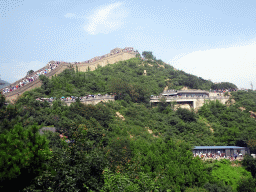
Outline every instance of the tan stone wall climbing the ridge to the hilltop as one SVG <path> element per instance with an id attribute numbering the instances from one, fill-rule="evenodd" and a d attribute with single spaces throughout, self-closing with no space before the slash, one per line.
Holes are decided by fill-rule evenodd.
<path id="1" fill-rule="evenodd" d="M 45 74 L 45 76 L 51 78 L 52 76 L 58 75 L 61 72 L 63 72 L 65 69 L 69 68 L 70 65 L 72 65 L 73 67 L 77 66 L 78 70 L 81 72 L 86 72 L 86 71 L 88 71 L 88 69 L 90 71 L 93 71 L 98 66 L 104 67 L 108 64 L 114 64 L 118 61 L 124 61 L 124 60 L 128 60 L 131 58 L 135 58 L 136 54 L 137 54 L 137 52 L 134 51 L 132 47 L 126 47 L 124 49 L 115 48 L 115 49 L 111 50 L 110 53 L 108 53 L 102 57 L 94 57 L 94 58 L 88 60 L 88 62 L 87 61 L 78 62 L 78 63 L 60 62 L 59 66 L 56 69 Z M 53 62 L 53 61 L 51 61 L 51 62 Z M 43 70 L 44 68 L 46 68 L 46 66 L 35 71 L 34 73 L 37 73 L 37 72 Z M 23 79 L 25 79 L 25 78 L 26 77 L 24 77 Z M 16 82 L 12 83 L 8 87 L 16 86 L 23 79 L 20 79 Z M 40 87 L 41 85 L 42 85 L 42 83 L 41 83 L 40 79 L 38 78 L 35 81 L 32 81 L 32 82 L 28 83 L 27 85 L 20 87 L 17 90 L 5 93 L 6 100 L 11 103 L 14 103 L 17 100 L 17 98 L 19 96 L 21 96 L 24 92 L 32 90 L 37 87 Z"/>

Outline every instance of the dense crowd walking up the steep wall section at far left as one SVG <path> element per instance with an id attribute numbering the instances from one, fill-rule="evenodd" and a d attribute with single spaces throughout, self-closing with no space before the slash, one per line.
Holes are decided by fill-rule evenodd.
<path id="1" fill-rule="evenodd" d="M 30 82 L 37 80 L 40 75 L 46 75 L 47 73 L 49 73 L 52 70 L 54 70 L 55 68 L 57 68 L 59 66 L 59 64 L 60 64 L 59 61 L 48 63 L 46 68 L 40 69 L 36 72 L 33 72 L 32 74 L 28 74 L 25 78 L 20 80 L 20 82 L 16 82 L 13 85 L 9 85 L 8 87 L 4 88 L 3 94 L 9 93 L 11 91 L 15 91 L 15 90 L 29 84 Z"/>

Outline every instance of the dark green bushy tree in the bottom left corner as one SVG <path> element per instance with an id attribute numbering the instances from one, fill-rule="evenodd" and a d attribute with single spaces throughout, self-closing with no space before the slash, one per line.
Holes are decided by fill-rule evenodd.
<path id="1" fill-rule="evenodd" d="M 0 188 L 3 191 L 24 188 L 47 169 L 44 161 L 51 157 L 51 152 L 48 141 L 38 130 L 36 125 L 25 129 L 19 123 L 0 135 Z"/>

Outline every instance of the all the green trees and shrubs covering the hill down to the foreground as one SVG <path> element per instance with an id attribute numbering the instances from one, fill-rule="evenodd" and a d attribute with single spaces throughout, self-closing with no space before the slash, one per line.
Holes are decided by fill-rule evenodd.
<path id="1" fill-rule="evenodd" d="M 67 69 L 52 79 L 40 78 L 42 86 L 24 93 L 15 105 L 5 106 L 1 95 L 3 191 L 255 190 L 254 159 L 246 157 L 242 164 L 204 162 L 191 152 L 195 145 L 239 145 L 254 151 L 256 121 L 239 109 L 246 97 L 251 100 L 245 107 L 254 109 L 254 93 L 232 92 L 236 104 L 209 102 L 197 113 L 175 111 L 174 103 L 152 108 L 150 95 L 166 86 L 216 86 L 154 58 L 134 58 L 85 73 Z M 230 83 L 218 86 L 236 88 Z M 95 106 L 77 100 L 70 107 L 58 99 L 52 106 L 35 100 L 97 93 L 115 93 L 117 100 Z M 39 135 L 46 126 L 57 132 Z"/>

